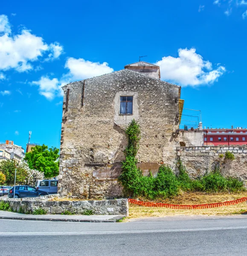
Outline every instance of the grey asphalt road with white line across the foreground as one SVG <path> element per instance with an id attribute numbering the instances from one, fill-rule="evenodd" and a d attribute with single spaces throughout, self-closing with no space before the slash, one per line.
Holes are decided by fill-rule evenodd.
<path id="1" fill-rule="evenodd" d="M 4 256 L 247 255 L 247 215 L 127 223 L 0 220 Z"/>

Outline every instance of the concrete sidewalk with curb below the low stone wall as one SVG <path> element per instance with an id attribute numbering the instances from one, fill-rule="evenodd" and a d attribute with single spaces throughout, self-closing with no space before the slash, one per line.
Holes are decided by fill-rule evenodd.
<path id="1" fill-rule="evenodd" d="M 27 221 L 116 222 L 125 215 L 32 215 L 0 211 L 0 219 Z"/>

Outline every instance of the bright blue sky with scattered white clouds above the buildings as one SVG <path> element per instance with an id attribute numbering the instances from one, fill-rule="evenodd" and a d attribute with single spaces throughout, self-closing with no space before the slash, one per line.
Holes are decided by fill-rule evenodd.
<path id="1" fill-rule="evenodd" d="M 31 143 L 59 147 L 61 85 L 139 55 L 182 86 L 203 126 L 247 128 L 247 1 L 12 0 L 0 15 L 0 142 L 25 148 L 32 131 Z"/>

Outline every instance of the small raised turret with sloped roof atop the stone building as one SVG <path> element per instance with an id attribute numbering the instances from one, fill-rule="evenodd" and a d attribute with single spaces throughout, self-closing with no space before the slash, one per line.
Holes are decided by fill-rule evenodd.
<path id="1" fill-rule="evenodd" d="M 145 61 L 128 64 L 125 66 L 125 69 L 142 73 L 144 76 L 160 79 L 160 67 Z"/>

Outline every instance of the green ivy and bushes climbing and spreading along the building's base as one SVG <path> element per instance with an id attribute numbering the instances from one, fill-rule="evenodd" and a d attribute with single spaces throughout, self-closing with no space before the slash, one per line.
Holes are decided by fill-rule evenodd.
<path id="1" fill-rule="evenodd" d="M 140 129 L 134 119 L 127 129 L 126 135 L 128 136 L 128 146 L 125 149 L 126 158 L 122 163 L 119 180 L 128 196 L 164 199 L 178 195 L 180 190 L 202 192 L 245 190 L 243 182 L 222 176 L 218 166 L 213 172 L 197 180 L 192 180 L 180 160 L 178 160 L 179 173 L 177 176 L 169 166 L 162 165 L 156 177 L 153 177 L 151 172 L 148 177 L 144 177 L 142 171 L 137 168 L 136 155 L 139 149 Z M 226 153 L 227 159 L 233 160 L 232 156 L 234 157 L 232 153 Z"/>

